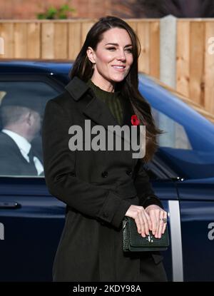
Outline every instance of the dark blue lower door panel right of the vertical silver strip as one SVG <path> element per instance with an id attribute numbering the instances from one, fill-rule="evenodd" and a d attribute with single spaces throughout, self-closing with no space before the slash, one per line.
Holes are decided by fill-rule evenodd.
<path id="1" fill-rule="evenodd" d="M 214 178 L 178 183 L 185 281 L 214 281 Z"/>

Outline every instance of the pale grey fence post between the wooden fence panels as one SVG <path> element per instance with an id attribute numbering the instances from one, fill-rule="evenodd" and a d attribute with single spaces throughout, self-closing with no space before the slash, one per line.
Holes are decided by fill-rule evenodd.
<path id="1" fill-rule="evenodd" d="M 176 37 L 177 19 L 165 16 L 160 21 L 160 79 L 176 88 Z"/>

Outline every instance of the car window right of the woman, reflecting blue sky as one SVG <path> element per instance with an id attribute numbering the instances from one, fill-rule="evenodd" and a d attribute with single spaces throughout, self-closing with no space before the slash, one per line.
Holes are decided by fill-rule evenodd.
<path id="1" fill-rule="evenodd" d="M 190 121 L 180 122 L 152 108 L 158 128 L 158 154 L 183 178 L 212 178 L 214 176 L 214 126 L 198 128 Z M 173 115 L 173 114 L 172 114 Z M 213 132 L 212 132 L 213 130 Z"/>

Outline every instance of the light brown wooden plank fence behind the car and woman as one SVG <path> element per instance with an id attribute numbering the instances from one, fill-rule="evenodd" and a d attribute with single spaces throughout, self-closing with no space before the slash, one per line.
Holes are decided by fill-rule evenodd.
<path id="1" fill-rule="evenodd" d="M 74 60 L 96 19 L 61 21 L 0 21 L 4 58 Z M 164 43 L 160 19 L 126 19 L 141 42 L 139 70 L 160 77 Z M 164 33 L 164 32 L 163 32 Z M 162 37 L 161 37 L 162 36 Z M 176 19 L 175 86 L 183 96 L 214 114 L 214 54 L 208 42 L 214 37 L 214 19 Z M 162 41 L 161 41 L 162 38 Z M 172 37 L 173 39 L 173 37 Z M 214 39 L 214 38 L 213 38 Z M 214 41 L 213 41 L 214 43 Z M 214 52 L 214 51 L 213 51 Z M 171 62 L 171 61 L 170 61 Z M 163 80 L 162 80 L 163 81 Z M 165 81 L 163 81 L 165 82 Z"/>

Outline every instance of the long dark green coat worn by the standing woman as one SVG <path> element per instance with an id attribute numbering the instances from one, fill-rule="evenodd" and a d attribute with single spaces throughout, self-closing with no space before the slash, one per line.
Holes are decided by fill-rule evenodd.
<path id="1" fill-rule="evenodd" d="M 134 113 L 127 100 L 123 108 L 123 125 L 131 126 Z M 54 281 L 165 280 L 159 253 L 128 255 L 122 248 L 122 220 L 130 205 L 161 205 L 148 175 L 142 165 L 134 173 L 140 159 L 132 158 L 132 150 L 69 150 L 68 129 L 84 130 L 85 119 L 91 127 L 118 124 L 91 88 L 74 77 L 46 104 L 42 128 L 46 185 L 67 205 Z"/>

